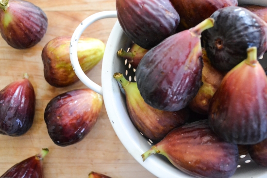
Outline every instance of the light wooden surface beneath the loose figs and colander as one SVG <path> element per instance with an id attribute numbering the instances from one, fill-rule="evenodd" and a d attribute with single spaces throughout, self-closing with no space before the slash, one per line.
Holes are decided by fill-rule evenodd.
<path id="1" fill-rule="evenodd" d="M 91 171 L 112 178 L 155 178 L 127 152 L 108 119 L 103 105 L 100 117 L 90 133 L 71 146 L 56 146 L 44 122 L 44 110 L 51 98 L 72 89 L 85 88 L 81 81 L 65 88 L 50 86 L 44 79 L 41 51 L 45 44 L 60 35 L 72 35 L 83 19 L 105 10 L 116 10 L 116 0 L 29 0 L 48 17 L 44 38 L 31 49 L 13 49 L 0 37 L 0 89 L 29 74 L 36 95 L 32 128 L 22 136 L 0 135 L 0 175 L 11 166 L 48 147 L 44 159 L 45 178 L 87 178 Z M 83 35 L 95 37 L 105 44 L 116 18 L 93 23 Z M 101 85 L 102 61 L 88 73 Z"/>

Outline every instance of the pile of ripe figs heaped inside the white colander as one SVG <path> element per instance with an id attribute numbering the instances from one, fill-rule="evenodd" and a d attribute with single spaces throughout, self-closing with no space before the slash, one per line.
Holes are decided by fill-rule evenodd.
<path id="1" fill-rule="evenodd" d="M 237 0 L 117 0 L 133 41 L 116 72 L 135 128 L 197 178 L 229 178 L 239 154 L 267 167 L 267 7 Z"/>

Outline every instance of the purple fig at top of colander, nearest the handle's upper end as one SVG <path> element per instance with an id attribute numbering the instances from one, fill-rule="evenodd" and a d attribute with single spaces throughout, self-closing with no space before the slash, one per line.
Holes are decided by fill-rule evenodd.
<path id="1" fill-rule="evenodd" d="M 174 34 L 180 22 L 169 0 L 116 0 L 116 8 L 125 34 L 144 49 Z"/>

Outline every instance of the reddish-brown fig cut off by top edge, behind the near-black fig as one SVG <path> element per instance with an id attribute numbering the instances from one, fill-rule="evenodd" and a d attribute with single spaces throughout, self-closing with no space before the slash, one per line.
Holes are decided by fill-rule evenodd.
<path id="1" fill-rule="evenodd" d="M 195 27 L 215 11 L 227 6 L 237 6 L 237 0 L 170 0 L 181 20 L 179 29 Z"/>

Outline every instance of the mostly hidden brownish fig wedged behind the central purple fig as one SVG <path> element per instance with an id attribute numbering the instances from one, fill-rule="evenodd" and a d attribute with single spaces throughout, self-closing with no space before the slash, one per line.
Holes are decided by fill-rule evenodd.
<path id="1" fill-rule="evenodd" d="M 211 65 L 206 50 L 203 48 L 202 54 L 203 68 L 201 81 L 203 84 L 200 86 L 197 95 L 188 106 L 196 113 L 208 114 L 210 99 L 219 87 L 225 73 L 217 70 Z"/>

